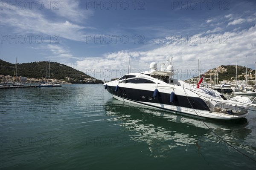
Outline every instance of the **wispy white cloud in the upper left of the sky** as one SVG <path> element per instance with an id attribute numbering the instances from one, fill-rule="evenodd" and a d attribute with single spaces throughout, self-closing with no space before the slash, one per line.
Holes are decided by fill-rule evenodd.
<path id="1" fill-rule="evenodd" d="M 80 19 L 86 18 L 86 14 L 83 12 L 75 12 L 78 3 L 68 3 L 70 1 L 60 1 L 59 10 L 52 10 L 59 16 L 64 17 L 62 21 L 49 20 L 41 10 L 36 9 L 9 9 L 8 6 L 3 6 L 1 10 L 0 20 L 1 25 L 5 28 L 12 28 L 8 30 L 8 34 L 35 34 L 35 35 L 58 35 L 69 40 L 85 41 L 84 29 L 92 29 L 86 26 L 80 26 L 72 23 Z M 61 6 L 62 4 L 62 6 Z M 68 5 L 70 4 L 70 7 Z M 50 18 L 50 17 L 48 17 Z M 66 19 L 66 20 L 65 20 Z M 69 21 L 71 20 L 71 21 Z"/>

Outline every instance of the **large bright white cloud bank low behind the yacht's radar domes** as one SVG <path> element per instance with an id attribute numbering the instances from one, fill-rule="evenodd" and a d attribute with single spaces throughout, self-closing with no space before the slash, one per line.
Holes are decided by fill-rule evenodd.
<path id="1" fill-rule="evenodd" d="M 216 29 L 218 30 L 218 28 Z M 159 62 L 165 62 L 167 58 L 173 56 L 175 69 L 184 74 L 188 74 L 191 69 L 197 70 L 198 59 L 202 61 L 205 69 L 210 68 L 211 61 L 213 66 L 235 63 L 236 56 L 241 58 L 239 65 L 245 65 L 242 58 L 245 58 L 246 55 L 248 60 L 255 60 L 255 57 L 253 57 L 256 55 L 255 26 L 241 31 L 236 30 L 236 32 L 211 35 L 213 39 L 208 35 L 207 40 L 207 35 L 205 35 L 201 41 L 199 35 L 194 35 L 198 37 L 195 43 L 192 43 L 194 42 L 192 39 L 188 40 L 187 43 L 185 41 L 173 43 L 172 39 L 169 38 L 169 44 L 156 49 L 148 51 L 122 50 L 98 58 L 84 58 L 83 61 L 70 63 L 70 66 L 84 72 L 87 72 L 88 69 L 93 70 L 94 73 L 102 72 L 102 74 L 91 74 L 91 76 L 102 80 L 104 78 L 110 80 L 110 78 L 104 77 L 104 71 L 110 69 L 113 73 L 115 69 L 119 69 L 119 71 L 128 69 L 129 58 L 131 59 L 132 69 L 138 71 L 139 69 L 148 70 L 151 62 L 157 62 L 159 66 Z M 114 74 L 111 78 L 113 77 L 115 77 Z M 120 77 L 120 74 L 116 77 Z"/>

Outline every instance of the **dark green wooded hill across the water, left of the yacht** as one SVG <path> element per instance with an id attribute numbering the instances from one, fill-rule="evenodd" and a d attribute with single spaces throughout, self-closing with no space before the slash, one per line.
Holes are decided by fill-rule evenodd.
<path id="1" fill-rule="evenodd" d="M 49 61 L 40 61 L 32 63 L 17 63 L 17 76 L 27 78 L 45 78 L 49 70 Z M 13 76 L 15 70 L 15 64 L 0 60 L 0 75 Z M 84 78 L 93 78 L 84 72 L 73 69 L 70 66 L 64 64 L 51 62 L 50 63 L 50 78 L 58 80 L 65 80 L 66 77 L 71 78 L 70 83 L 83 83 L 80 80 Z M 95 83 L 103 83 L 101 80 L 95 81 Z"/>

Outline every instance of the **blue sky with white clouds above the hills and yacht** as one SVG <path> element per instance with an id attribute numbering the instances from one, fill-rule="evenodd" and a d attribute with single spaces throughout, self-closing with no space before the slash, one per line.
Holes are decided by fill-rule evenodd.
<path id="1" fill-rule="evenodd" d="M 255 0 L 0 1 L 0 58 L 59 62 L 110 80 L 173 56 L 178 76 L 255 69 Z M 181 75 L 181 76 L 180 76 Z"/>

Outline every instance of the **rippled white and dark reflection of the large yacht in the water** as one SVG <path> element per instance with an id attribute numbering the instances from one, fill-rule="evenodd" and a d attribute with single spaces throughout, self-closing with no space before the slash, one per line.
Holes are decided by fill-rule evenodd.
<path id="1" fill-rule="evenodd" d="M 106 115 L 113 116 L 109 121 L 117 121 L 125 130 L 131 132 L 131 140 L 144 142 L 155 157 L 165 156 L 178 146 L 202 147 L 228 146 L 246 149 L 253 155 L 253 146 L 243 141 L 252 132 L 246 128 L 246 118 L 218 122 L 175 115 L 169 112 L 156 111 L 147 107 L 135 106 L 118 100 L 111 100 L 104 105 Z M 121 122 L 121 123 L 120 123 Z M 218 138 L 221 137 L 224 141 Z"/>

